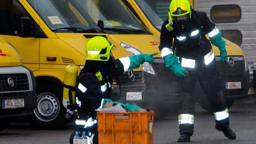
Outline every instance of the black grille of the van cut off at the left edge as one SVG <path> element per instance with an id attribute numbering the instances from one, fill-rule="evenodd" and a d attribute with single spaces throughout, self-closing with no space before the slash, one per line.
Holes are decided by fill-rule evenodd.
<path id="1" fill-rule="evenodd" d="M 8 78 L 12 78 L 13 86 L 8 84 Z M 0 92 L 29 90 L 29 81 L 26 73 L 0 74 Z"/>

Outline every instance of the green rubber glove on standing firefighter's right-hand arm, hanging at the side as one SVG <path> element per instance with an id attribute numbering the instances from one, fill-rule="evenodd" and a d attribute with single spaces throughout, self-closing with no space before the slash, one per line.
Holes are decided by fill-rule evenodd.
<path id="1" fill-rule="evenodd" d="M 226 41 L 224 41 L 222 39 L 222 33 L 219 32 L 214 37 L 210 37 L 210 41 L 211 41 L 212 44 L 214 44 L 215 46 L 217 46 L 219 48 L 220 61 L 222 63 L 225 63 L 226 62 L 226 56 L 227 56 L 226 47 L 225 47 Z"/>

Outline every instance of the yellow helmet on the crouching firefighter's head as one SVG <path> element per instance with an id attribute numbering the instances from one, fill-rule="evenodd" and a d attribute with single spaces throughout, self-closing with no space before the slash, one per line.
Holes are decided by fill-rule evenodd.
<path id="1" fill-rule="evenodd" d="M 108 61 L 113 46 L 105 37 L 91 38 L 86 44 L 86 60 Z"/>

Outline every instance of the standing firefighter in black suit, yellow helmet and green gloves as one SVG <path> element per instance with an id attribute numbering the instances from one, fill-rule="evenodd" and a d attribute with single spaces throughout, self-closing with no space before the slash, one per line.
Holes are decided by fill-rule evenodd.
<path id="1" fill-rule="evenodd" d="M 206 12 L 193 10 L 188 0 L 172 0 L 168 14 L 168 19 L 162 24 L 159 49 L 165 66 L 180 77 L 178 142 L 190 142 L 194 132 L 193 90 L 196 80 L 212 105 L 215 128 L 229 139 L 236 139 L 236 134 L 229 127 L 222 80 L 218 76 L 211 46 L 212 43 L 219 48 L 220 61 L 224 63 L 227 56 L 226 42 L 222 40 L 219 29 L 209 20 Z M 208 34 L 211 43 L 205 34 Z"/>

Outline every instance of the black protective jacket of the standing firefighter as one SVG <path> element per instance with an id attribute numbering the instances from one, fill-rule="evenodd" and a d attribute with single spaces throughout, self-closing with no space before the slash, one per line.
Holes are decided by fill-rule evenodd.
<path id="1" fill-rule="evenodd" d="M 212 49 L 212 45 L 205 37 L 205 34 L 212 32 L 215 28 L 215 24 L 209 20 L 206 12 L 192 10 L 192 18 L 190 18 L 189 26 L 185 31 L 179 29 L 174 21 L 174 29 L 169 32 L 165 28 L 167 23 L 168 19 L 162 24 L 159 46 L 160 51 L 165 47 L 172 49 L 173 51 L 175 51 L 176 48 L 176 56 L 203 61 L 204 56 Z M 192 32 L 194 33 L 197 30 L 199 30 L 199 33 L 192 36 Z M 180 41 L 178 40 L 179 37 L 186 37 L 186 39 Z"/>

